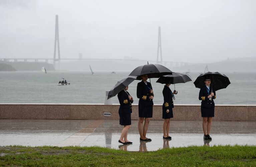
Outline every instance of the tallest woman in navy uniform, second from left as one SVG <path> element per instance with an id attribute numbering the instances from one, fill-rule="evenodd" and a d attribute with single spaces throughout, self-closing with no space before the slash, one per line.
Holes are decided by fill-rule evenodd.
<path id="1" fill-rule="evenodd" d="M 137 98 L 139 98 L 139 122 L 138 129 L 140 133 L 140 140 L 151 141 L 146 137 L 150 118 L 153 116 L 153 90 L 150 82 L 147 82 L 148 75 L 142 75 L 142 81 L 137 85 Z M 143 125 L 143 121 L 145 123 Z"/>

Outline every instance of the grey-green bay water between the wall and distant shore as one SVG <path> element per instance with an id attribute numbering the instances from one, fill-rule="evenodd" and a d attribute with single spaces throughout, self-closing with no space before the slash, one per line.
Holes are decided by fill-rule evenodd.
<path id="1" fill-rule="evenodd" d="M 0 72 L 0 103 L 81 103 L 102 104 L 105 100 L 105 91 L 110 90 L 117 81 L 127 77 L 130 72 L 73 72 L 41 71 L 33 72 Z M 227 75 L 231 84 L 226 89 L 216 91 L 215 104 L 222 105 L 255 105 L 254 92 L 256 92 L 256 73 L 221 72 Z M 176 84 L 174 104 L 200 104 L 199 89 L 193 82 L 198 72 L 189 73 L 192 81 Z M 57 83 L 66 78 L 70 85 L 58 86 Z M 149 81 L 149 79 L 148 79 Z M 154 90 L 154 104 L 163 104 L 162 90 L 164 85 L 156 83 L 152 78 Z M 134 97 L 134 104 L 138 104 L 136 96 L 137 83 L 135 80 L 129 85 L 129 93 Z M 174 90 L 174 85 L 170 86 Z M 117 96 L 110 98 L 113 104 L 118 104 Z"/>

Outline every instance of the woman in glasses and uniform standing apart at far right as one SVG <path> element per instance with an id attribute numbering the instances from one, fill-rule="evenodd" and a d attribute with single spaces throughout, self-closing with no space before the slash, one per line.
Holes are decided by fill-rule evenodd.
<path id="1" fill-rule="evenodd" d="M 205 79 L 205 86 L 200 89 L 199 100 L 201 102 L 201 115 L 203 117 L 203 131 L 204 140 L 211 140 L 210 130 L 212 125 L 212 118 L 214 117 L 214 101 L 216 93 L 211 85 L 211 79 Z"/>

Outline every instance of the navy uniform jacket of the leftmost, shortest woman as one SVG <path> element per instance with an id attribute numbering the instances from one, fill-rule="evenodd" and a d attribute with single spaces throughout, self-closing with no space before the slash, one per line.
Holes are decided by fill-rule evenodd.
<path id="1" fill-rule="evenodd" d="M 127 91 L 126 91 L 127 92 Z M 119 103 L 120 103 L 120 107 L 119 107 L 119 113 L 123 113 L 123 114 L 129 114 L 132 113 L 132 103 L 133 100 L 131 101 L 128 96 L 130 95 L 129 92 L 126 93 L 124 90 L 122 90 L 121 92 L 119 92 L 117 94 Z"/>

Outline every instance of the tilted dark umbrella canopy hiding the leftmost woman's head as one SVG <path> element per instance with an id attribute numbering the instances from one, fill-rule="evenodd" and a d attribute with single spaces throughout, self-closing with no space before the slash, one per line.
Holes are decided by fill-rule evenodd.
<path id="1" fill-rule="evenodd" d="M 123 90 L 126 86 L 136 80 L 137 76 L 128 76 L 127 78 L 123 78 L 122 80 L 118 81 L 115 86 L 108 92 L 107 99 L 114 97 L 117 95 L 121 90 Z"/>

